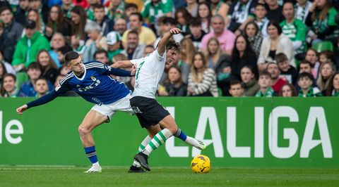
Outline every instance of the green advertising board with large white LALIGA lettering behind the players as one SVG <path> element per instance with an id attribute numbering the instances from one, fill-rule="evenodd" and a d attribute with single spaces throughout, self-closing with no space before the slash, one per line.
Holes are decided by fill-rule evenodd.
<path id="1" fill-rule="evenodd" d="M 78 124 L 91 108 L 81 98 L 57 98 L 24 115 L 32 98 L 0 98 L 0 165 L 88 165 Z M 189 167 L 206 155 L 213 167 L 339 168 L 339 101 L 335 98 L 159 98 L 186 134 L 206 150 L 169 138 L 152 166 Z M 102 165 L 131 164 L 145 137 L 135 116 L 117 113 L 95 129 Z M 121 139 L 129 141 L 121 141 Z M 66 147 L 65 147 L 66 145 Z M 59 157 L 60 150 L 68 157 Z M 25 155 L 23 157 L 23 155 Z"/>

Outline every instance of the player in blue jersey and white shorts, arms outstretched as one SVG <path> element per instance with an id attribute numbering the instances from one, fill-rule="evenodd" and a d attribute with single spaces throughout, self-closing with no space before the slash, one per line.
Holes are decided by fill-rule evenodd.
<path id="1" fill-rule="evenodd" d="M 95 103 L 96 105 L 91 108 L 83 122 L 81 122 L 78 131 L 85 153 L 93 164 L 86 172 L 101 172 L 95 152 L 95 143 L 90 132 L 100 124 L 109 122 L 114 112 L 118 110 L 134 113 L 129 103 L 131 98 L 129 89 L 124 83 L 113 79 L 109 75 L 131 77 L 135 75 L 135 70 L 133 69 L 131 72 L 121 70 L 98 61 L 83 63 L 81 57 L 74 51 L 66 53 L 64 60 L 71 72 L 64 79 L 61 79 L 54 91 L 20 106 L 20 108 L 16 109 L 16 112 L 21 115 L 25 110 L 48 103 L 69 90 L 75 91 L 86 101 Z"/>

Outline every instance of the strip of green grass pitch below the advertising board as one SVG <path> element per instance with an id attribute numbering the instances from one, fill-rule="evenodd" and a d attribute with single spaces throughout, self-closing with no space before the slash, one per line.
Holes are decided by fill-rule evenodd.
<path id="1" fill-rule="evenodd" d="M 104 167 L 85 174 L 83 167 L 1 167 L 0 186 L 339 186 L 339 169 L 152 168 L 129 174 L 127 167 Z"/>

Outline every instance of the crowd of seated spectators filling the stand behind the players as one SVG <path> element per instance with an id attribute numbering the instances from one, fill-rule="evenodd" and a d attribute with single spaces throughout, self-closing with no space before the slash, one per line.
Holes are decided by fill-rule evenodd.
<path id="1" fill-rule="evenodd" d="M 143 58 L 174 27 L 181 48 L 158 96 L 339 96 L 338 11 L 333 0 L 0 1 L 0 97 L 52 91 L 68 51 Z"/>

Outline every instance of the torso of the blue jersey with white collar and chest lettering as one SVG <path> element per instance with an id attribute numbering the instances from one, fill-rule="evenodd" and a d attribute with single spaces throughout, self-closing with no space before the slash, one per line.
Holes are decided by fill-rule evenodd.
<path id="1" fill-rule="evenodd" d="M 70 72 L 60 84 L 65 84 L 72 91 L 76 91 L 86 101 L 99 105 L 113 103 L 129 94 L 130 91 L 124 83 L 105 75 L 112 67 L 98 61 L 85 63 L 84 66 L 85 72 L 81 77 Z"/>

